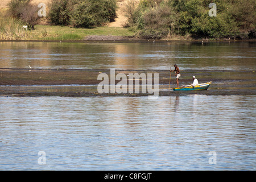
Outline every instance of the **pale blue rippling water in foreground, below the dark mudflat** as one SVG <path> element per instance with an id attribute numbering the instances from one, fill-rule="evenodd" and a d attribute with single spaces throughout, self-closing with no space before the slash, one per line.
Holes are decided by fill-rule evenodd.
<path id="1" fill-rule="evenodd" d="M 0 100 L 1 169 L 256 166 L 255 96 Z M 36 163 L 41 150 L 47 154 L 45 166 Z M 217 152 L 217 165 L 209 165 L 209 151 Z"/>

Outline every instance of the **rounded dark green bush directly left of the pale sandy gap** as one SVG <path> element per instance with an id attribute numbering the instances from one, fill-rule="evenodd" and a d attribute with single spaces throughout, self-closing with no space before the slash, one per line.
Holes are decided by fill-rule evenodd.
<path id="1" fill-rule="evenodd" d="M 96 27 L 115 18 L 115 0 L 54 0 L 49 3 L 51 24 L 72 27 Z"/>

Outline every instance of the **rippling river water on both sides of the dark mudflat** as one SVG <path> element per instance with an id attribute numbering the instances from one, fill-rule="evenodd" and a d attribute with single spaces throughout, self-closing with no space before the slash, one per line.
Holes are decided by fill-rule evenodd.
<path id="1" fill-rule="evenodd" d="M 0 42 L 0 68 L 253 72 L 255 47 Z M 242 94 L 0 97 L 0 170 L 255 170 L 255 106 Z"/>

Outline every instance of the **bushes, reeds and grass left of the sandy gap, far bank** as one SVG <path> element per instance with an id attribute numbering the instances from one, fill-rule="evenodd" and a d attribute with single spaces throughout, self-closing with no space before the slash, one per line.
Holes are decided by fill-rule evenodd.
<path id="1" fill-rule="evenodd" d="M 127 28 L 104 26 L 115 16 L 115 0 L 51 1 L 47 19 L 43 19 L 49 20 L 51 26 L 38 24 L 38 19 L 42 19 L 38 18 L 38 8 L 30 11 L 32 6 L 31 0 L 11 0 L 9 9 L 0 11 L 0 40 L 83 40 L 88 35 L 134 35 Z M 25 17 L 25 13 L 33 16 Z"/>

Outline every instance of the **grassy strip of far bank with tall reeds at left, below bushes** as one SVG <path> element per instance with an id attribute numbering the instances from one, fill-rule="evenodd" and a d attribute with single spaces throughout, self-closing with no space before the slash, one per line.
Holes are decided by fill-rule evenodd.
<path id="1" fill-rule="evenodd" d="M 1 13 L 0 13 L 1 15 Z M 94 28 L 74 28 L 69 26 L 51 26 L 49 24 L 38 24 L 35 30 L 26 30 L 23 23 L 11 17 L 0 18 L 0 41 L 73 41 L 73 42 L 108 42 L 108 41 L 133 41 L 133 42 L 163 42 L 163 41 L 195 41 L 195 42 L 237 42 L 256 39 L 228 39 L 228 38 L 192 38 L 191 35 L 172 35 L 168 39 L 142 39 L 135 36 L 135 32 L 129 28 L 114 27 L 107 24 Z"/>

